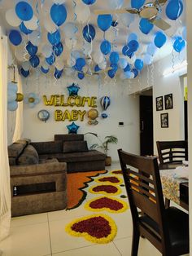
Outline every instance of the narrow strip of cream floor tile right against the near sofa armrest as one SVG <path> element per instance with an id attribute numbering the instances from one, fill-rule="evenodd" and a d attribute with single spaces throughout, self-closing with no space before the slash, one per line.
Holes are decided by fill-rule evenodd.
<path id="1" fill-rule="evenodd" d="M 11 218 L 11 227 L 20 227 L 24 225 L 32 225 L 37 223 L 46 223 L 47 213 L 32 214 Z"/>

